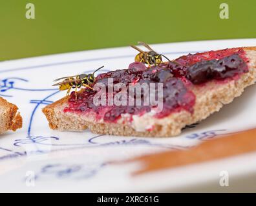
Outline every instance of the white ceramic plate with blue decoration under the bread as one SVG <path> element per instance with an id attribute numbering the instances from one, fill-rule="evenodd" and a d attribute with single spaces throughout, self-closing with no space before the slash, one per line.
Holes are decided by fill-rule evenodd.
<path id="1" fill-rule="evenodd" d="M 256 39 L 197 41 L 152 45 L 170 59 L 187 53 L 255 46 Z M 111 48 L 0 62 L 0 95 L 19 107 L 23 128 L 0 136 L 1 192 L 158 192 L 223 191 L 220 172 L 228 171 L 229 189 L 256 171 L 255 153 L 133 177 L 141 165 L 110 165 L 112 160 L 182 149 L 217 135 L 256 126 L 255 86 L 175 138 L 136 138 L 53 131 L 41 109 L 65 95 L 53 88 L 58 77 L 127 68 L 136 51 Z M 74 120 L 75 121 L 75 120 Z M 249 175 L 250 174 L 250 175 Z M 251 182 L 251 181 L 249 181 Z M 250 185 L 247 185 L 250 189 Z M 233 190 L 235 187 L 233 187 Z M 225 191 L 225 190 L 224 190 Z"/>

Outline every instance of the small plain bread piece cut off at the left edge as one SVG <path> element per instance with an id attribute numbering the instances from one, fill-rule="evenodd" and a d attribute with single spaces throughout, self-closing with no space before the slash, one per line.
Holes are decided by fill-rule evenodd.
<path id="1" fill-rule="evenodd" d="M 18 108 L 15 104 L 7 102 L 0 97 L 0 134 L 7 130 L 16 131 L 22 127 L 22 118 L 17 112 Z"/>

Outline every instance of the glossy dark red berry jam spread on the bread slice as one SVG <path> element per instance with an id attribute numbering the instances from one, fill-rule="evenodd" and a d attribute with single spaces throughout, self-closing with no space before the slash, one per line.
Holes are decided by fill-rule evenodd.
<path id="1" fill-rule="evenodd" d="M 135 91 L 133 94 L 140 95 L 140 105 L 129 104 L 128 98 L 123 106 L 108 104 L 109 95 L 114 97 L 117 93 L 125 92 L 127 97 L 129 97 L 131 95 L 129 93 L 129 85 L 162 83 L 162 110 L 155 113 L 155 117 L 166 117 L 170 113 L 180 111 L 181 109 L 193 113 L 196 97 L 189 89 L 189 84 L 202 84 L 209 80 L 233 79 L 242 73 L 248 72 L 246 62 L 248 60 L 245 57 L 244 50 L 235 48 L 216 52 L 196 53 L 194 55 L 189 54 L 176 59 L 176 62 L 163 63 L 160 66 L 151 66 L 151 68 L 147 68 L 143 63 L 134 62 L 129 65 L 128 69 L 109 71 L 96 77 L 94 84 L 101 83 L 101 85 L 107 88 L 107 93 L 105 94 L 106 105 L 94 104 L 93 98 L 100 90 L 85 89 L 78 93 L 77 99 L 75 93 L 71 93 L 69 106 L 64 111 L 94 112 L 96 113 L 96 118 L 103 118 L 106 122 L 116 122 L 122 114 L 143 115 L 156 108 L 155 105 L 144 104 L 144 97 L 148 94 L 144 93 L 143 89 L 140 93 L 136 94 L 137 91 Z M 109 78 L 113 79 L 113 84 L 124 84 L 126 90 L 109 90 Z M 133 119 L 131 118 L 131 120 Z"/>

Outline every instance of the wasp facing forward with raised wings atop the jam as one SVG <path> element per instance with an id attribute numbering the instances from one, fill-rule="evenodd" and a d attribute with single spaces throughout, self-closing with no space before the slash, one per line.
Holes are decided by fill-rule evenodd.
<path id="1" fill-rule="evenodd" d="M 138 44 L 145 46 L 145 48 L 147 48 L 149 50 L 149 52 L 144 52 L 143 50 L 141 50 L 140 48 L 138 48 L 137 46 L 131 45 L 132 48 L 134 48 L 135 50 L 137 50 L 138 53 L 135 57 L 135 61 L 136 62 L 142 62 L 144 64 L 148 64 L 149 67 L 151 65 L 155 65 L 158 66 L 159 64 L 161 64 L 162 61 L 162 57 L 164 57 L 165 59 L 167 59 L 169 62 L 171 62 L 167 57 L 165 57 L 165 55 L 159 54 L 157 52 L 155 52 L 150 46 L 149 44 L 146 44 L 145 42 L 141 42 L 139 41 Z"/>

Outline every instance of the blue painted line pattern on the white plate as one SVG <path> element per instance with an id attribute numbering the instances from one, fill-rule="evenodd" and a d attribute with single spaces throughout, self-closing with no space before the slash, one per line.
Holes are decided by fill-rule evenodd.
<path id="1" fill-rule="evenodd" d="M 195 52 L 201 52 L 201 51 L 195 51 Z M 170 52 L 170 53 L 165 53 L 165 54 L 177 54 L 177 53 L 191 53 L 191 52 Z M 131 55 L 121 55 L 117 57 L 104 57 L 104 58 L 94 58 L 94 59 L 82 59 L 78 61 L 67 61 L 67 62 L 56 62 L 52 64 L 41 64 L 41 65 L 35 65 L 35 66 L 27 66 L 27 67 L 21 67 L 21 68 L 14 68 L 10 70 L 1 70 L 0 73 L 5 73 L 5 72 L 12 72 L 12 71 L 21 71 L 21 70 L 31 70 L 31 69 L 37 69 L 37 68 L 46 68 L 46 67 L 51 67 L 51 66 L 59 66 L 63 64 L 73 64 L 73 63 L 79 63 L 79 62 L 89 62 L 89 61 L 100 61 L 104 59 L 118 59 L 118 58 L 123 58 L 123 57 L 131 57 Z M 87 73 L 92 72 L 87 71 Z M 109 71 L 109 70 L 102 70 L 102 71 Z M 20 91 L 28 91 L 28 92 L 41 92 L 41 91 L 50 91 L 51 93 L 48 94 L 45 98 L 41 100 L 37 99 L 32 99 L 30 100 L 30 104 L 36 104 L 34 109 L 32 110 L 32 113 L 30 115 L 30 120 L 28 124 L 28 129 L 27 129 L 27 136 L 25 138 L 19 138 L 14 140 L 14 146 L 16 147 L 21 147 L 21 145 L 26 145 L 26 144 L 33 144 L 36 145 L 36 150 L 33 151 L 34 153 L 45 153 L 45 151 L 42 151 L 37 147 L 37 145 L 50 145 L 53 147 L 67 147 L 67 149 L 77 149 L 77 148 L 83 148 L 83 147 L 105 147 L 105 146 L 119 146 L 119 145 L 145 145 L 145 146 L 153 146 L 153 147 L 162 147 L 162 148 L 167 148 L 167 149 L 186 149 L 190 146 L 180 146 L 180 145 L 174 145 L 174 144 L 164 144 L 164 143 L 153 143 L 151 142 L 150 139 L 143 139 L 143 138 L 132 138 L 132 139 L 121 139 L 119 138 L 117 141 L 110 141 L 110 142 L 105 142 L 101 143 L 100 141 L 97 142 L 101 136 L 103 135 L 96 135 L 92 136 L 91 138 L 88 139 L 86 144 L 52 144 L 47 143 L 49 142 L 48 140 L 60 140 L 59 136 L 42 136 L 42 135 L 32 135 L 32 129 L 33 129 L 33 122 L 34 122 L 34 115 L 41 105 L 48 105 L 51 104 L 52 101 L 48 100 L 50 97 L 54 97 L 57 93 L 59 93 L 59 90 L 56 88 L 47 88 L 47 89 L 34 89 L 34 88 L 19 88 L 16 87 L 16 82 L 28 82 L 27 79 L 22 79 L 19 77 L 9 77 L 6 79 L 1 80 L 0 83 L 0 95 L 3 97 L 12 97 L 12 95 L 6 94 L 6 92 L 10 90 L 20 90 Z M 53 91 L 53 92 L 52 92 Z M 4 94 L 3 94 L 4 93 Z M 193 126 L 187 126 L 188 128 L 195 127 L 197 124 Z M 216 131 L 205 131 L 204 133 L 194 133 L 192 135 L 187 135 L 187 138 L 189 139 L 198 139 L 198 140 L 205 140 L 207 138 L 213 138 L 214 136 L 218 135 L 220 132 L 225 131 L 224 129 L 221 130 L 216 130 Z M 0 147 L 0 150 L 5 150 L 9 152 L 10 154 L 0 156 L 0 160 L 6 159 L 6 158 L 16 158 L 18 156 L 25 156 L 27 155 L 27 152 L 25 151 L 24 153 L 12 151 L 11 149 L 6 149 L 3 147 Z M 54 150 L 64 150 L 63 148 L 61 149 L 52 149 Z M 48 152 L 48 151 L 46 151 Z"/>

